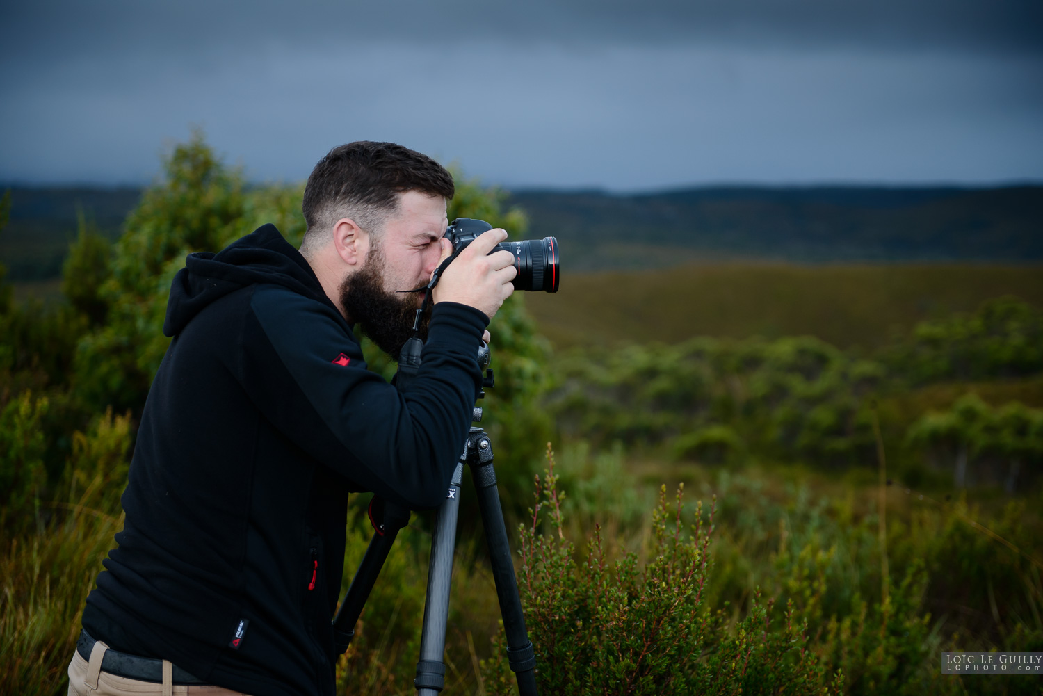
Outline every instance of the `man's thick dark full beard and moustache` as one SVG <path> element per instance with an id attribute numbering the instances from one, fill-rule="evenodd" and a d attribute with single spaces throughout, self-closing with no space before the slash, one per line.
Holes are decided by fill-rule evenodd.
<path id="1" fill-rule="evenodd" d="M 402 346 L 413 335 L 413 321 L 422 299 L 422 292 L 399 293 L 384 289 L 384 255 L 379 246 L 370 250 L 365 267 L 345 278 L 340 285 L 340 304 L 344 312 L 395 362 Z M 428 338 L 430 321 L 431 305 L 420 317 L 419 337 L 422 340 Z"/>

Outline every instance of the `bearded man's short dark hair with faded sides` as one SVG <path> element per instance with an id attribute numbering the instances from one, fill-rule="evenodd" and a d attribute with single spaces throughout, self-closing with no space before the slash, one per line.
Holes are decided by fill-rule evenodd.
<path id="1" fill-rule="evenodd" d="M 387 215 L 397 210 L 397 194 L 405 191 L 448 200 L 456 188 L 453 175 L 440 164 L 395 143 L 360 140 L 333 148 L 315 165 L 305 186 L 304 245 L 309 237 L 314 239 L 311 233 L 329 230 L 342 217 L 354 219 L 366 232 L 378 232 Z"/>

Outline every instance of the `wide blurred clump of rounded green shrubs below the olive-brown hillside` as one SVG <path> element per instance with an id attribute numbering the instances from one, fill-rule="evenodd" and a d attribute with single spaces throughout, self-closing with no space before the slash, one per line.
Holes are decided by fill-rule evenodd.
<path id="1" fill-rule="evenodd" d="M 731 431 L 744 451 L 761 456 L 831 465 L 875 461 L 864 402 L 884 371 L 814 338 L 699 338 L 574 353 L 560 364 L 548 407 L 566 438 L 596 447 L 618 439 L 639 451 L 698 458 L 688 451 L 702 437 L 694 433 L 730 439 L 724 433 Z M 739 449 L 719 446 L 732 454 Z"/>

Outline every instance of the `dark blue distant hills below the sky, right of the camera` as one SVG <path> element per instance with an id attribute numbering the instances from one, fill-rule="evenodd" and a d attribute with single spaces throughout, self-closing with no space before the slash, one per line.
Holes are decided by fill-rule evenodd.
<path id="1" fill-rule="evenodd" d="M 509 201 L 529 214 L 530 236 L 558 237 L 575 270 L 706 258 L 1043 260 L 1043 186 L 532 190 Z"/>

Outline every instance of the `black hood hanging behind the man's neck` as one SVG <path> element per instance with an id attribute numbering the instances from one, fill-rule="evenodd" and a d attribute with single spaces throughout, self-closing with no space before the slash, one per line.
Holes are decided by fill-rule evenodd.
<path id="1" fill-rule="evenodd" d="M 202 251 L 185 259 L 185 268 L 170 286 L 163 333 L 175 336 L 204 307 L 254 283 L 282 285 L 334 307 L 305 257 L 275 225 L 264 224 L 218 254 Z"/>

